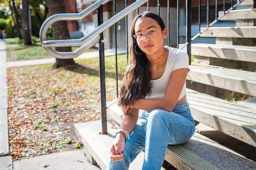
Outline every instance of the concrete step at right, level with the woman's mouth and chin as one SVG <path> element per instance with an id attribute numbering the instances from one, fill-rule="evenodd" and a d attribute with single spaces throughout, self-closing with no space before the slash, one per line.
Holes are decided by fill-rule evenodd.
<path id="1" fill-rule="evenodd" d="M 227 60 L 256 62 L 256 46 L 227 44 L 191 44 L 191 54 Z"/>

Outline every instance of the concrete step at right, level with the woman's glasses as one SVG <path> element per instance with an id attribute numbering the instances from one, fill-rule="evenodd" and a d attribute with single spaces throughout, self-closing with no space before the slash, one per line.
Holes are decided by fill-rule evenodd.
<path id="1" fill-rule="evenodd" d="M 256 38 L 255 32 L 256 27 L 210 27 L 200 37 Z"/>

